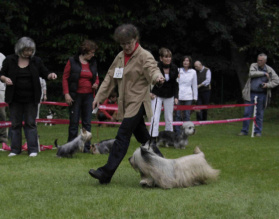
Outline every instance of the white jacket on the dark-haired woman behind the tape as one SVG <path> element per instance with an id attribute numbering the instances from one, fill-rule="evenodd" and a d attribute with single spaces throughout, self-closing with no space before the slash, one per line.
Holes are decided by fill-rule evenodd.
<path id="1" fill-rule="evenodd" d="M 198 82 L 197 82 L 196 71 L 194 69 L 188 69 L 187 71 L 185 71 L 184 68 L 179 68 L 178 73 L 179 73 L 178 100 L 180 101 L 198 100 Z"/>

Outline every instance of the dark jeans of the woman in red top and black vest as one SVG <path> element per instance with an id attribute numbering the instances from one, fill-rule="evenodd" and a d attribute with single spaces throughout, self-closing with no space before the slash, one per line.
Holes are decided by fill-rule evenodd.
<path id="1" fill-rule="evenodd" d="M 86 130 L 91 132 L 91 120 L 92 120 L 92 103 L 93 93 L 79 94 L 76 93 L 75 101 L 72 102 L 72 106 L 69 107 L 69 119 L 70 124 L 68 128 L 68 142 L 72 141 L 78 135 L 79 129 L 79 116 L 81 113 L 81 125 Z M 90 149 L 90 140 L 84 143 L 84 147 Z"/>

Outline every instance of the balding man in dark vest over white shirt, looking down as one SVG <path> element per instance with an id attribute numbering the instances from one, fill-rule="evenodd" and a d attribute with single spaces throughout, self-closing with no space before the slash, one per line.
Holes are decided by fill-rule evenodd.
<path id="1" fill-rule="evenodd" d="M 211 94 L 211 71 L 202 65 L 200 61 L 196 61 L 195 69 L 197 70 L 197 81 L 198 81 L 198 101 L 197 105 L 209 105 L 210 94 Z M 197 112 L 198 121 L 207 120 L 207 109 L 202 109 Z"/>

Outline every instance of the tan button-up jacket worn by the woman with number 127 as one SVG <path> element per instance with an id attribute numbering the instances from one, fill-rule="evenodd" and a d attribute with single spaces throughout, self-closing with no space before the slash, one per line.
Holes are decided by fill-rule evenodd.
<path id="1" fill-rule="evenodd" d="M 121 79 L 113 78 L 115 68 L 124 68 Z M 101 84 L 94 100 L 103 103 L 113 88 L 118 84 L 117 119 L 132 117 L 144 104 L 147 117 L 152 117 L 150 100 L 150 84 L 156 84 L 157 77 L 163 77 L 157 62 L 150 52 L 140 45 L 124 67 L 124 52 L 121 51 L 114 59 L 107 75 Z"/>

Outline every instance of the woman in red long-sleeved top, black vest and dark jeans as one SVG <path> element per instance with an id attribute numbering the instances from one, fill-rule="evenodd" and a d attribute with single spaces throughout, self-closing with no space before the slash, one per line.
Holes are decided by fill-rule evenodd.
<path id="1" fill-rule="evenodd" d="M 77 54 L 70 57 L 63 73 L 63 94 L 69 105 L 70 124 L 68 128 L 68 142 L 78 135 L 79 116 L 86 131 L 91 132 L 92 103 L 94 93 L 98 88 L 96 60 L 92 57 L 98 46 L 91 40 L 85 40 L 79 47 Z M 89 152 L 90 140 L 84 144 L 84 153 Z"/>

